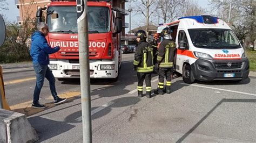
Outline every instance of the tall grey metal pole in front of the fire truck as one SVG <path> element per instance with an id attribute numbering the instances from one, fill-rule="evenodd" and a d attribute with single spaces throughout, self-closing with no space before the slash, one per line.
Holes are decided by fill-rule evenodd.
<path id="1" fill-rule="evenodd" d="M 87 0 L 77 0 L 83 142 L 92 142 Z"/>

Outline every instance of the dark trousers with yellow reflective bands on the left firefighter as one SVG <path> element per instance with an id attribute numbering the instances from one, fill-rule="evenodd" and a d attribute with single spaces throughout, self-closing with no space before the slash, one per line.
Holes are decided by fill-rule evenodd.
<path id="1" fill-rule="evenodd" d="M 137 73 L 138 91 L 143 91 L 143 82 L 146 82 L 146 91 L 151 91 L 151 73 Z"/>

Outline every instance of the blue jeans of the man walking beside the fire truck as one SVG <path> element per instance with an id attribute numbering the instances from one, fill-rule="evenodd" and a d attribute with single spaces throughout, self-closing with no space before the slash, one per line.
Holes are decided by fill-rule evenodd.
<path id="1" fill-rule="evenodd" d="M 35 103 L 38 103 L 39 101 L 39 95 L 44 85 L 44 77 L 49 81 L 51 95 L 53 96 L 54 99 L 57 99 L 58 96 L 55 88 L 55 77 L 53 76 L 48 65 L 33 64 L 33 68 L 35 69 L 35 72 L 36 72 L 36 87 L 33 94 L 33 103 L 35 104 Z"/>

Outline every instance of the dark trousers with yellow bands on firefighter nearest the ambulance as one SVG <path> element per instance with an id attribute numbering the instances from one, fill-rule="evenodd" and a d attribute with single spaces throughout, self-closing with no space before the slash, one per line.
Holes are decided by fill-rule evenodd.
<path id="1" fill-rule="evenodd" d="M 172 68 L 159 68 L 158 88 L 164 88 L 164 78 L 166 78 L 166 86 L 171 86 L 172 81 Z"/>

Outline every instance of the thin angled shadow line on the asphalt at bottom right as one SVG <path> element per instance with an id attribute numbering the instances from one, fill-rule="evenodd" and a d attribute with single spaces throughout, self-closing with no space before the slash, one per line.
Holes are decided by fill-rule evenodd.
<path id="1" fill-rule="evenodd" d="M 177 140 L 177 142 L 181 142 L 184 139 L 187 138 L 188 135 L 190 135 L 194 130 L 196 130 L 196 128 L 203 123 L 203 121 L 211 115 L 211 113 L 218 108 L 218 106 L 220 106 L 222 103 L 225 102 L 232 102 L 232 103 L 256 103 L 256 99 L 226 99 L 223 98 L 221 99 L 221 101 L 219 103 L 217 103 L 203 118 L 201 118 L 198 123 L 196 125 L 194 125 L 189 131 L 187 131 L 181 138 L 179 138 L 179 140 Z"/>

